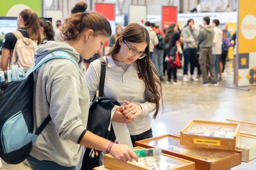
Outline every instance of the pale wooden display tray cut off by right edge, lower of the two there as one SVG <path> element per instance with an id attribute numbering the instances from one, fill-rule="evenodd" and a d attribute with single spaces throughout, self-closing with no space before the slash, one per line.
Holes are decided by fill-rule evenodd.
<path id="1" fill-rule="evenodd" d="M 242 161 L 249 162 L 256 158 L 256 137 L 240 134 L 236 149 L 242 151 Z"/>

